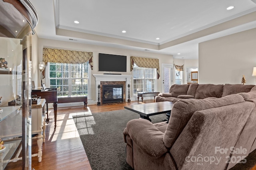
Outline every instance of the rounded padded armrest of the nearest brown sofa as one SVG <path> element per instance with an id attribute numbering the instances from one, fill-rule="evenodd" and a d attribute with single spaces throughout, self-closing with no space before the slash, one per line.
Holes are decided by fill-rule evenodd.
<path id="1" fill-rule="evenodd" d="M 164 133 L 159 131 L 150 121 L 133 119 L 127 123 L 126 130 L 133 143 L 149 156 L 158 158 L 168 152 L 163 143 Z"/>

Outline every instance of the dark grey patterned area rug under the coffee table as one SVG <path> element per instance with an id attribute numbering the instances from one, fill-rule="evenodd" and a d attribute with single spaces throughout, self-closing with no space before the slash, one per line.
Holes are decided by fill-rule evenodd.
<path id="1" fill-rule="evenodd" d="M 123 131 L 128 121 L 139 117 L 127 109 L 73 116 L 92 170 L 132 170 L 126 163 Z M 165 114 L 150 116 L 152 123 L 165 118 Z"/>

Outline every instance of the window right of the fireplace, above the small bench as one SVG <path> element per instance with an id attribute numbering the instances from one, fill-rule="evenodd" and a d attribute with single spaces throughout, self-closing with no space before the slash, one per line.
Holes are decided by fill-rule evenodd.
<path id="1" fill-rule="evenodd" d="M 133 67 L 133 95 L 156 91 L 156 68 Z"/>

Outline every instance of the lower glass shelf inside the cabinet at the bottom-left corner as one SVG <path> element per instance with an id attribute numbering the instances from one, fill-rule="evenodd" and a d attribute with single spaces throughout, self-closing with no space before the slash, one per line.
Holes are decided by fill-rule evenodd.
<path id="1" fill-rule="evenodd" d="M 8 164 L 8 160 L 12 158 L 12 155 L 20 145 L 20 142 L 21 139 L 4 143 L 6 149 L 0 152 L 0 169 L 4 169 L 6 167 L 6 165 Z"/>

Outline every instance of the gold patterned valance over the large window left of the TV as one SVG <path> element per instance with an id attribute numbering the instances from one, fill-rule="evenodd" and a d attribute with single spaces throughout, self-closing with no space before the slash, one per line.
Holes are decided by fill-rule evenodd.
<path id="1" fill-rule="evenodd" d="M 43 48 L 43 62 L 83 64 L 89 61 L 93 68 L 92 52 Z"/>

